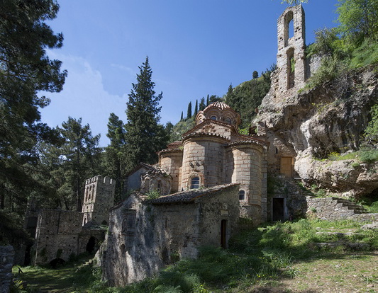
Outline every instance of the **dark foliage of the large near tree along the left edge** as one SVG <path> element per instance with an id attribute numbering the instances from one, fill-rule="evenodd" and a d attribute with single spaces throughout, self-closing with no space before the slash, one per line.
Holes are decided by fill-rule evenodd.
<path id="1" fill-rule="evenodd" d="M 62 34 L 55 35 L 46 24 L 58 10 L 52 0 L 1 1 L 0 213 L 12 214 L 4 226 L 22 226 L 28 195 L 49 194 L 40 180 L 37 146 L 59 139 L 40 122 L 39 108 L 50 99 L 38 93 L 61 91 L 67 76 L 67 71 L 60 71 L 62 62 L 46 54 L 46 49 L 62 47 Z"/>

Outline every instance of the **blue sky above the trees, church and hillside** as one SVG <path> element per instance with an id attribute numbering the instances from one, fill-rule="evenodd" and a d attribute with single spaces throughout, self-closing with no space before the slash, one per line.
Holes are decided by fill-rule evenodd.
<path id="1" fill-rule="evenodd" d="M 41 110 L 55 127 L 82 117 L 106 146 L 110 113 L 126 122 L 126 102 L 145 57 L 155 91 L 162 91 L 161 122 L 176 123 L 189 101 L 223 96 L 230 84 L 252 79 L 276 61 L 280 0 L 60 0 L 48 24 L 65 36 L 60 50 L 68 77 L 60 93 Z M 306 43 L 314 30 L 336 25 L 337 0 L 309 0 Z"/>

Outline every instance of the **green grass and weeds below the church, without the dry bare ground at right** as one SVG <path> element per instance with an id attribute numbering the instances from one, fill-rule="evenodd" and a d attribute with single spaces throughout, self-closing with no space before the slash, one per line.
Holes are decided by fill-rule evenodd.
<path id="1" fill-rule="evenodd" d="M 337 240 L 328 231 L 356 231 L 346 242 L 369 243 L 378 247 L 377 232 L 359 229 L 353 221 L 324 221 L 300 219 L 297 222 L 265 224 L 244 229 L 230 239 L 230 249 L 205 246 L 199 248 L 198 259 L 182 259 L 169 265 L 155 277 L 123 288 L 107 287 L 101 281 L 101 270 L 91 265 L 71 268 L 64 265 L 57 270 L 23 268 L 21 281 L 40 286 L 30 289 L 66 289 L 70 292 L 247 292 L 254 284 L 274 282 L 279 278 L 295 277 L 299 271 L 294 263 L 316 259 L 334 259 L 340 251 L 319 250 L 314 242 Z M 318 233 L 318 231 L 325 233 Z M 13 269 L 16 272 L 16 269 Z M 53 284 L 53 286 L 52 286 Z M 248 288 L 248 289 L 247 289 Z M 248 290 L 249 292 L 249 290 Z"/>

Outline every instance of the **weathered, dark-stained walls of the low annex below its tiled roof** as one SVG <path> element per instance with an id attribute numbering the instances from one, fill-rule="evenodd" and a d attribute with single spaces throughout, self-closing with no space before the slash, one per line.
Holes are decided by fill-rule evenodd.
<path id="1" fill-rule="evenodd" d="M 133 194 L 111 209 L 109 233 L 97 255 L 111 286 L 143 280 L 174 259 L 195 258 L 201 245 L 219 246 L 221 221 L 227 221 L 226 240 L 238 221 L 238 185 L 190 203 L 143 200 Z"/>

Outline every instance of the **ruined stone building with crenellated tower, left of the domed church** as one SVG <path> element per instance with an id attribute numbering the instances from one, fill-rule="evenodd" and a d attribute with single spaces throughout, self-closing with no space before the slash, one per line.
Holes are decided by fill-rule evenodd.
<path id="1" fill-rule="evenodd" d="M 109 209 L 113 206 L 115 182 L 94 176 L 85 182 L 82 212 L 61 209 L 31 210 L 26 228 L 35 238 L 26 249 L 26 264 L 57 265 L 99 248 L 104 240 Z M 101 226 L 101 224 L 103 224 Z"/>

